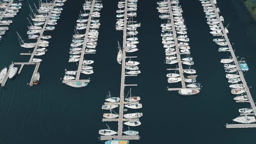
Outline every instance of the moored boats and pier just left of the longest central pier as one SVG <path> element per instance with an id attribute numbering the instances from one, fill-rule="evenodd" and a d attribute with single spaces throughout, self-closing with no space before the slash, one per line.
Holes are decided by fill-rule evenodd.
<path id="1" fill-rule="evenodd" d="M 72 87 L 85 87 L 89 80 L 80 80 L 80 74 L 93 74 L 93 60 L 85 59 L 85 54 L 95 54 L 100 26 L 99 11 L 103 8 L 101 1 L 87 0 L 83 4 L 83 12 L 76 21 L 75 35 L 73 35 L 69 62 L 79 62 L 75 71 L 65 71 L 63 83 Z M 76 77 L 75 77 L 76 76 Z"/>

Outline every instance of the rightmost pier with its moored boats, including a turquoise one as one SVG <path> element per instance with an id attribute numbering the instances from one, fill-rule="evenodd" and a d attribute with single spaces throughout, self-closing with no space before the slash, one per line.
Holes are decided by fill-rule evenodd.
<path id="1" fill-rule="evenodd" d="M 230 84 L 231 93 L 235 95 L 233 98 L 236 102 L 248 102 L 250 108 L 240 108 L 240 116 L 233 121 L 240 124 L 227 124 L 226 128 L 256 128 L 256 111 L 252 95 L 245 81 L 243 72 L 249 70 L 244 58 L 237 60 L 230 40 L 228 39 L 228 29 L 223 26 L 224 18 L 220 16 L 220 9 L 216 7 L 216 0 L 199 0 L 206 14 L 207 24 L 210 26 L 211 34 L 214 36 L 215 42 L 220 48 L 219 52 L 230 52 L 230 57 L 221 59 L 226 74 L 226 78 Z M 250 116 L 249 116 L 250 115 Z M 242 124 L 241 124 L 242 123 Z M 251 124 L 254 123 L 254 124 Z"/>

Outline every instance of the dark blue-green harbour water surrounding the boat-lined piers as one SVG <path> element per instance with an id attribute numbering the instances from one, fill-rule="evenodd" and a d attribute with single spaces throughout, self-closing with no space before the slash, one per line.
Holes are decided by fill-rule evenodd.
<path id="1" fill-rule="evenodd" d="M 221 58 L 227 53 L 217 52 L 218 46 L 212 42 L 210 29 L 206 23 L 203 8 L 198 0 L 180 0 L 183 16 L 190 38 L 191 54 L 194 57 L 198 81 L 203 90 L 196 97 L 181 97 L 177 92 L 167 92 L 164 65 L 164 49 L 161 45 L 161 29 L 156 0 L 139 0 L 138 17 L 141 22 L 138 38 L 139 51 L 134 53 L 141 62 L 141 75 L 127 78 L 126 83 L 138 84 L 134 95 L 140 95 L 143 104 L 140 132 L 141 140 L 132 144 L 242 144 L 254 143 L 256 129 L 226 129 L 232 123 L 239 108 L 249 108 L 249 104 L 233 101 L 225 78 Z M 102 144 L 98 140 L 98 130 L 105 128 L 102 123 L 105 95 L 120 92 L 121 67 L 116 62 L 117 40 L 121 32 L 115 31 L 115 10 L 117 0 L 103 1 L 101 27 L 97 54 L 86 56 L 95 60 L 92 82 L 86 88 L 71 88 L 61 83 L 65 68 L 75 68 L 69 64 L 69 44 L 72 40 L 75 21 L 84 0 L 67 0 L 56 29 L 49 32 L 48 52 L 41 56 L 41 82 L 29 87 L 34 67 L 25 66 L 14 80 L 0 89 L 0 144 Z M 225 24 L 230 23 L 229 37 L 237 56 L 246 57 L 249 72 L 248 85 L 254 85 L 256 72 L 255 51 L 256 23 L 249 15 L 241 0 L 217 0 Z M 26 42 L 30 13 L 28 4 L 37 0 L 26 0 L 23 8 L 13 19 L 13 24 L 0 43 L 0 68 L 10 62 L 26 62 L 28 52 L 20 48 L 16 31 Z M 86 78 L 86 77 L 85 77 Z M 128 88 L 125 90 L 128 91 Z M 255 88 L 251 88 L 255 95 Z M 256 100 L 256 97 L 254 96 Z M 117 130 L 117 123 L 108 123 Z"/>

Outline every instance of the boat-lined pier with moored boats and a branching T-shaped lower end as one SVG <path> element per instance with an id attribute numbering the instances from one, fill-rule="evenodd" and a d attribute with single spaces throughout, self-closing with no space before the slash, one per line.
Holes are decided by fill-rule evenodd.
<path id="1" fill-rule="evenodd" d="M 36 65 L 35 70 L 32 74 L 30 83 L 28 85 L 33 86 L 34 78 L 38 77 L 38 69 L 40 62 L 42 62 L 42 59 L 35 58 L 35 56 L 43 56 L 46 54 L 47 47 L 49 46 L 49 42 L 47 39 L 50 39 L 51 36 L 44 35 L 45 31 L 47 30 L 54 30 L 55 25 L 57 24 L 57 20 L 59 19 L 59 16 L 62 12 L 62 6 L 64 5 L 64 2 L 66 0 L 46 0 L 45 2 L 42 2 L 42 0 L 39 1 L 39 8 L 36 8 L 36 13 L 32 10 L 32 7 L 30 6 L 31 14 L 30 18 L 33 23 L 30 22 L 30 26 L 28 26 L 29 30 L 27 31 L 28 38 L 34 39 L 36 42 L 33 43 L 25 43 L 22 37 L 19 33 L 17 33 L 20 46 L 26 49 L 33 49 L 32 52 L 29 53 L 21 53 L 20 55 L 23 56 L 30 56 L 30 59 L 28 62 L 13 62 L 13 68 L 16 68 L 15 65 L 20 65 L 19 71 L 17 72 L 20 74 L 20 72 L 23 69 L 24 65 Z M 34 5 L 36 7 L 36 5 Z M 10 70 L 10 69 L 9 69 Z M 9 72 L 9 71 L 8 71 Z M 2 83 L 2 86 L 4 86 L 5 83 Z"/>

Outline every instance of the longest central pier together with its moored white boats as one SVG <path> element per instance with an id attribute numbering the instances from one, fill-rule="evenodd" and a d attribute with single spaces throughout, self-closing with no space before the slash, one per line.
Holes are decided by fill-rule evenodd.
<path id="1" fill-rule="evenodd" d="M 122 66 L 121 71 L 121 90 L 120 97 L 111 98 L 108 95 L 108 98 L 105 100 L 105 105 L 102 106 L 104 110 L 110 110 L 111 113 L 105 113 L 103 115 L 102 121 L 118 121 L 118 131 L 113 131 L 109 128 L 99 130 L 100 140 L 120 140 L 120 141 L 128 141 L 128 140 L 139 140 L 140 137 L 138 135 L 138 131 L 130 130 L 136 129 L 141 122 L 139 118 L 142 117 L 142 113 L 139 113 L 137 110 L 142 108 L 142 105 L 139 103 L 141 100 L 140 97 L 132 97 L 131 96 L 131 88 L 128 94 L 125 97 L 125 87 L 126 86 L 137 86 L 137 84 L 125 84 L 126 76 L 137 76 L 140 74 L 138 65 L 139 62 L 131 60 L 132 58 L 137 58 L 137 56 L 127 56 L 128 54 L 134 54 L 138 51 L 138 27 L 141 26 L 140 23 L 134 21 L 135 16 L 137 16 L 137 1 L 138 0 L 121 0 L 118 2 L 118 10 L 116 11 L 116 30 L 123 30 L 123 43 L 122 49 L 119 46 L 119 52 L 117 61 Z M 127 60 L 126 60 L 127 59 Z M 130 96 L 128 97 L 128 95 Z M 119 113 L 116 113 L 113 109 L 119 107 Z M 124 109 L 127 108 L 127 109 Z M 133 113 L 124 114 L 124 111 L 129 111 Z M 123 127 L 123 125 L 128 127 Z M 123 131 L 128 130 L 128 131 Z M 124 134 L 124 135 L 123 135 Z"/>

